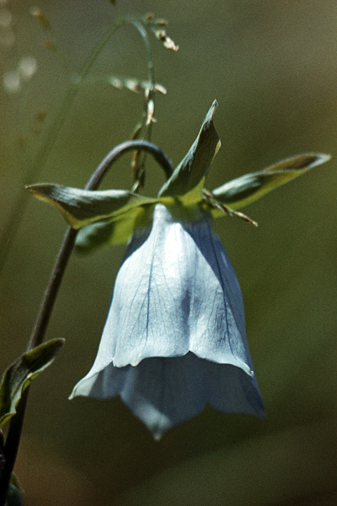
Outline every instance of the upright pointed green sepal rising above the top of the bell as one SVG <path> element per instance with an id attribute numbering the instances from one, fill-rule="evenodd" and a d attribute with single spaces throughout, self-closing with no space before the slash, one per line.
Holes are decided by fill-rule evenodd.
<path id="1" fill-rule="evenodd" d="M 211 162 L 220 148 L 220 139 L 213 124 L 217 105 L 214 100 L 199 135 L 170 179 L 161 187 L 158 197 L 178 197 L 187 205 L 202 200 L 201 190 Z"/>

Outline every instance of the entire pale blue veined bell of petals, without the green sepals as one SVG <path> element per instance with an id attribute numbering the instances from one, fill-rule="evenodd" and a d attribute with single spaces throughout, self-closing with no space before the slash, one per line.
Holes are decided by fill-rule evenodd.
<path id="1" fill-rule="evenodd" d="M 206 214 L 177 219 L 157 204 L 133 237 L 77 395 L 120 395 L 156 437 L 206 403 L 264 417 L 239 283 Z"/>

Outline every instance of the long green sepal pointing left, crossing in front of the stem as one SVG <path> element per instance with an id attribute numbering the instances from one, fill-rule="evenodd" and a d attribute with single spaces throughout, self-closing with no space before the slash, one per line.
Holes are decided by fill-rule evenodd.
<path id="1" fill-rule="evenodd" d="M 103 219 L 119 219 L 137 207 L 157 202 L 128 190 L 79 190 L 53 183 L 34 184 L 27 189 L 58 209 L 76 230 Z"/>

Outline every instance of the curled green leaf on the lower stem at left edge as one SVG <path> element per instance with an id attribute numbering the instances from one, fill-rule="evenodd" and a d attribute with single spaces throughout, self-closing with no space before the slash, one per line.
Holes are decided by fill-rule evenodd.
<path id="1" fill-rule="evenodd" d="M 23 391 L 40 372 L 51 365 L 65 339 L 53 339 L 23 353 L 6 370 L 0 384 L 0 427 L 16 413 Z"/>

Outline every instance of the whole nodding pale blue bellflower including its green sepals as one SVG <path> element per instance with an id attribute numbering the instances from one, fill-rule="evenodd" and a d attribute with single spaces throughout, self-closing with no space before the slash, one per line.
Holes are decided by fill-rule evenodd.
<path id="1" fill-rule="evenodd" d="M 242 294 L 211 219 L 223 205 L 256 200 L 327 160 L 300 155 L 205 193 L 206 174 L 220 147 L 215 108 L 213 103 L 197 140 L 157 199 L 117 190 L 31 188 L 42 200 L 56 202 L 72 226 L 86 226 L 82 248 L 119 242 L 132 233 L 95 362 L 70 397 L 119 395 L 156 438 L 206 403 L 223 413 L 265 417 Z M 120 205 L 116 199 L 122 199 Z"/>

